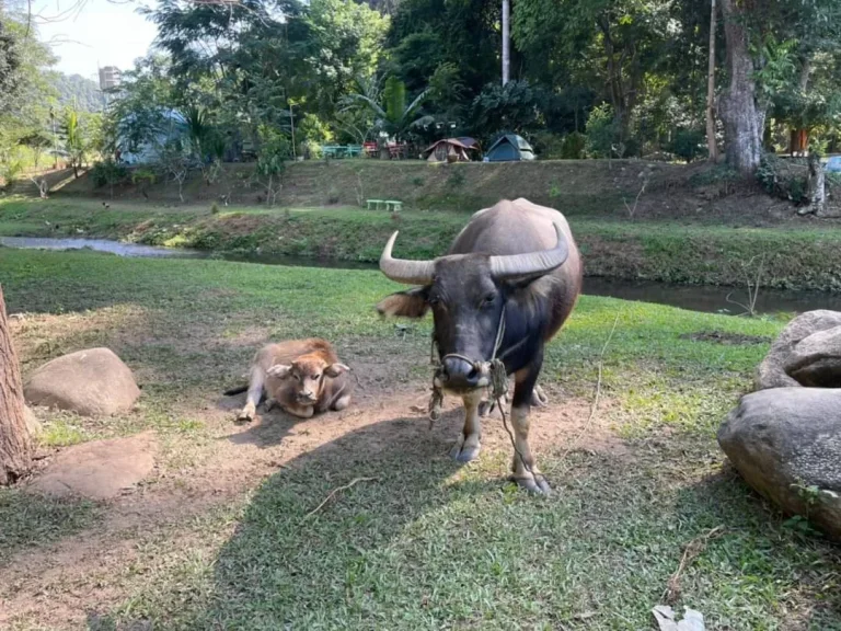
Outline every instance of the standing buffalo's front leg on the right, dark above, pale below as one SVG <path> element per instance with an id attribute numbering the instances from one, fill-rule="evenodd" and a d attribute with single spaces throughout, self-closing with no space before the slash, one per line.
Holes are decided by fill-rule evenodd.
<path id="1" fill-rule="evenodd" d="M 541 363 L 541 358 L 538 358 L 531 366 L 517 372 L 515 377 L 514 403 L 511 404 L 515 450 L 511 470 L 514 471 L 514 480 L 527 491 L 549 494 L 551 492 L 549 483 L 538 469 L 529 446 L 530 403 Z"/>

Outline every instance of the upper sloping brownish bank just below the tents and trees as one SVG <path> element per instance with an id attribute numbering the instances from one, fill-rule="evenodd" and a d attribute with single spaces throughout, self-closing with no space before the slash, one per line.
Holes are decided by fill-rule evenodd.
<path id="1" fill-rule="evenodd" d="M 803 225 L 787 203 L 753 186 L 738 186 L 721 168 L 675 165 L 636 160 L 558 160 L 539 162 L 428 164 L 419 160 L 334 160 L 290 163 L 278 206 L 360 206 L 366 199 L 400 199 L 407 209 L 474 211 L 502 198 L 528 199 L 569 216 L 617 219 L 680 219 L 701 223 Z M 82 177 L 61 194 L 111 197 Z M 237 205 L 265 202 L 251 164 L 228 164 L 220 180 L 207 185 L 194 173 L 184 185 L 187 204 Z M 114 198 L 175 204 L 177 186 L 127 182 Z"/>

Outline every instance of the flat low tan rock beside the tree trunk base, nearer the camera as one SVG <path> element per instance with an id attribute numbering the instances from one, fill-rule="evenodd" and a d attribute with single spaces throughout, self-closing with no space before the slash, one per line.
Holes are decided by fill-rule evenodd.
<path id="1" fill-rule="evenodd" d="M 30 489 L 56 496 L 108 500 L 146 478 L 157 451 L 158 441 L 148 432 L 74 445 L 56 456 Z"/>

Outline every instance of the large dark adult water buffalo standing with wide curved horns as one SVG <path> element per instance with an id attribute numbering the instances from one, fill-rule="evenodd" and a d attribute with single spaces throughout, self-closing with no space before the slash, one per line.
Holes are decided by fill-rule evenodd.
<path id="1" fill-rule="evenodd" d="M 422 318 L 431 308 L 440 385 L 464 402 L 464 428 L 451 456 L 463 462 L 479 456 L 480 404 L 496 352 L 515 379 L 514 478 L 530 491 L 548 493 L 529 448 L 529 412 L 540 399 L 544 344 L 568 318 L 581 289 L 581 260 L 566 219 L 528 199 L 502 200 L 474 214 L 447 254 L 434 261 L 394 259 L 396 237 L 385 244 L 380 269 L 419 287 L 388 296 L 377 310 Z"/>

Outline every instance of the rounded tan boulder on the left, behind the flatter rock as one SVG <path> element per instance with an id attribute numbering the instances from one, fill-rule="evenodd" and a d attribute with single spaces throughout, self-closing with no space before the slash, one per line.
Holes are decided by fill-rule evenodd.
<path id="1" fill-rule="evenodd" d="M 58 357 L 30 376 L 26 402 L 71 410 L 85 416 L 116 414 L 140 395 L 131 370 L 110 348 L 90 348 Z"/>

